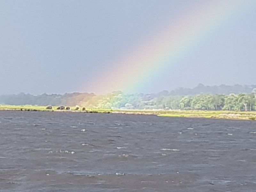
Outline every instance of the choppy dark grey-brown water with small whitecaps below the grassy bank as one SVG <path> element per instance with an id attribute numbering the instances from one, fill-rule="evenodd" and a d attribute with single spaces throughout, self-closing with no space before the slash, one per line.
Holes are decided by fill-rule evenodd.
<path id="1" fill-rule="evenodd" d="M 256 191 L 256 122 L 0 111 L 0 191 Z"/>

